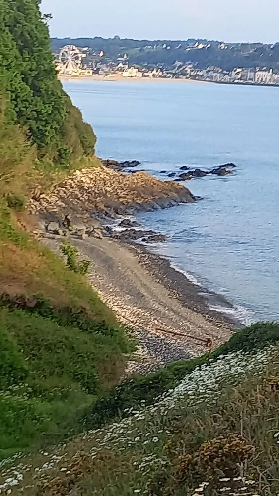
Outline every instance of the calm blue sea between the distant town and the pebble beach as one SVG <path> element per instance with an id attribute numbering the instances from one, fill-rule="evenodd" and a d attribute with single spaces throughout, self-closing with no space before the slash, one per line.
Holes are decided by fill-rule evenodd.
<path id="1" fill-rule="evenodd" d="M 65 81 L 104 158 L 159 171 L 235 162 L 184 183 L 203 200 L 142 213 L 150 249 L 228 299 L 246 323 L 279 320 L 279 88 L 179 81 Z"/>

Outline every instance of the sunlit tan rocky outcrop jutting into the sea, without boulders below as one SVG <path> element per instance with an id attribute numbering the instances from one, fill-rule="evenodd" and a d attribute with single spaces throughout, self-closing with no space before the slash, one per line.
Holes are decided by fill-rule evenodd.
<path id="1" fill-rule="evenodd" d="M 90 225 L 92 217 L 103 222 L 118 215 L 194 201 L 189 189 L 175 181 L 160 181 L 146 172 L 132 175 L 100 166 L 75 171 L 50 195 L 41 194 L 37 200 L 30 200 L 29 209 L 32 213 L 40 212 L 49 223 L 70 213 L 71 218 L 76 217 L 72 224 Z"/>

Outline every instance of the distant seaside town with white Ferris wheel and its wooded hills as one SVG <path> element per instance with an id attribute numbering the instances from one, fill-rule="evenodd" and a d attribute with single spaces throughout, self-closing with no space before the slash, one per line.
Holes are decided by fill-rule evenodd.
<path id="1" fill-rule="evenodd" d="M 183 42 L 184 46 L 178 42 L 170 45 L 160 42 L 131 48 L 129 41 L 142 42 L 115 37 L 109 40 L 109 46 L 108 40 L 104 40 L 102 48 L 102 39 L 88 39 L 93 45 L 95 40 L 96 48 L 73 44 L 57 46 L 54 52 L 58 73 L 68 77 L 167 78 L 279 86 L 279 44 L 228 45 L 190 40 Z M 78 41 L 80 44 L 81 40 Z M 119 52 L 125 44 L 127 50 Z M 215 60 L 219 60 L 221 66 L 212 64 Z M 234 67 L 234 61 L 243 62 L 245 66 Z M 262 61 L 269 61 L 269 65 L 257 65 Z"/>

